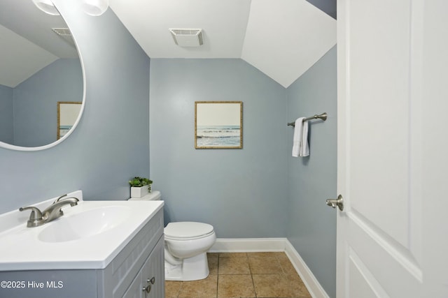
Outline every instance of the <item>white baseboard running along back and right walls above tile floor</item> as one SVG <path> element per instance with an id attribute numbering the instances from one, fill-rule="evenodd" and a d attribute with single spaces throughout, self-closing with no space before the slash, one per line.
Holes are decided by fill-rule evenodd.
<path id="1" fill-rule="evenodd" d="M 287 238 L 250 238 L 250 239 L 225 239 L 218 238 L 210 253 L 253 253 L 262 251 L 283 251 L 293 264 L 295 271 L 307 286 L 311 297 L 329 298 L 316 277 L 290 244 Z"/>

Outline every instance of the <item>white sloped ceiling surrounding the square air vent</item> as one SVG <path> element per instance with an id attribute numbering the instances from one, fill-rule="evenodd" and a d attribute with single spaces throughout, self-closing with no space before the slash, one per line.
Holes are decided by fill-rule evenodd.
<path id="1" fill-rule="evenodd" d="M 241 58 L 283 87 L 336 44 L 336 20 L 305 0 L 110 0 L 151 58 Z M 202 29 L 180 47 L 169 29 Z"/>

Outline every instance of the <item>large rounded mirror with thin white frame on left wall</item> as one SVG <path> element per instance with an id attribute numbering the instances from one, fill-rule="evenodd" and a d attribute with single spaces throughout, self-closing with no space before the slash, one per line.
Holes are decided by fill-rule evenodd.
<path id="1" fill-rule="evenodd" d="M 84 76 L 60 15 L 31 0 L 0 0 L 0 147 L 41 150 L 62 142 L 84 107 Z"/>

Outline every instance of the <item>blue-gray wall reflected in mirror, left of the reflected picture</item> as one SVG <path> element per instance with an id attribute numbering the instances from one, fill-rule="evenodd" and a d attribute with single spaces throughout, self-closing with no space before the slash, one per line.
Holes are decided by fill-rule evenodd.
<path id="1" fill-rule="evenodd" d="M 13 91 L 14 142 L 38 147 L 57 140 L 57 102 L 83 99 L 79 59 L 58 59 Z"/>

